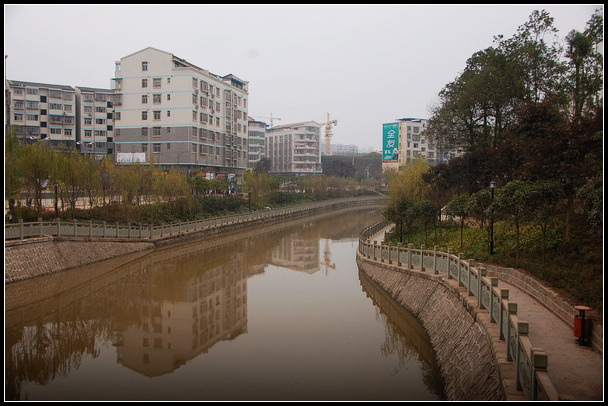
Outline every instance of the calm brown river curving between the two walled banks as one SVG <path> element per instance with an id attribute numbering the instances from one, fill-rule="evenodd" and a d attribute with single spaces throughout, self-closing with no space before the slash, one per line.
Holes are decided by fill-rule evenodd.
<path id="1" fill-rule="evenodd" d="M 351 210 L 5 287 L 5 400 L 445 400 Z M 91 275 L 90 277 L 86 277 Z"/>

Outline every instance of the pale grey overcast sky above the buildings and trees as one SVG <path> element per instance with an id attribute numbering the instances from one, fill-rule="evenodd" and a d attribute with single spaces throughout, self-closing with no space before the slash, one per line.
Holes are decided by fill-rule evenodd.
<path id="1" fill-rule="evenodd" d="M 547 10 L 559 37 L 602 5 L 4 5 L 7 79 L 109 88 L 146 47 L 249 81 L 249 115 L 338 124 L 332 143 L 382 148 L 382 124 L 429 118 L 493 38 Z M 8 55 L 8 58 L 6 58 Z"/>

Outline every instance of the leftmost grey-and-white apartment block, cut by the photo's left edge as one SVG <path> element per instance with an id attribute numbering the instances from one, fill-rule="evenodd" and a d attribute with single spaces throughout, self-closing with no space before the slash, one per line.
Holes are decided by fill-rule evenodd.
<path id="1" fill-rule="evenodd" d="M 21 144 L 46 140 L 49 146 L 76 146 L 76 100 L 70 86 L 5 81 L 6 125 Z"/>

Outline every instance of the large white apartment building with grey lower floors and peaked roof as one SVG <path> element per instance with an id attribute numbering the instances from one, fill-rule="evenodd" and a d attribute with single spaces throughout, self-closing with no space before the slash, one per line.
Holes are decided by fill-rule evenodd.
<path id="1" fill-rule="evenodd" d="M 145 48 L 116 62 L 117 162 L 154 162 L 208 178 L 248 163 L 248 82 Z"/>

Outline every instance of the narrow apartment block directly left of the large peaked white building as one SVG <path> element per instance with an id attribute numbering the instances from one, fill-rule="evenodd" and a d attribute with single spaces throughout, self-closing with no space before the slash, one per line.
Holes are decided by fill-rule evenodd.
<path id="1" fill-rule="evenodd" d="M 114 157 L 114 102 L 110 89 L 76 87 L 76 146 L 101 160 Z"/>

